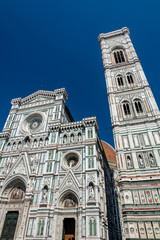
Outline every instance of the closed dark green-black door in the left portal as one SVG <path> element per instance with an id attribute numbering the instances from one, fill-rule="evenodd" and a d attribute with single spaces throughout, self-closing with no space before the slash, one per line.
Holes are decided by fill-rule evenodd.
<path id="1" fill-rule="evenodd" d="M 18 212 L 8 212 L 3 225 L 0 240 L 13 240 L 17 226 Z"/>

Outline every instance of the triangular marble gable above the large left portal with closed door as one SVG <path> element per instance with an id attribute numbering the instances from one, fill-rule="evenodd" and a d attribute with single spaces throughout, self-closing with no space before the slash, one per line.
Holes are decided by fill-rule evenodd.
<path id="1" fill-rule="evenodd" d="M 6 178 L 10 178 L 11 176 L 22 175 L 29 178 L 30 175 L 30 167 L 28 162 L 27 154 L 21 154 L 17 161 L 13 164 L 11 169 L 9 170 Z"/>

